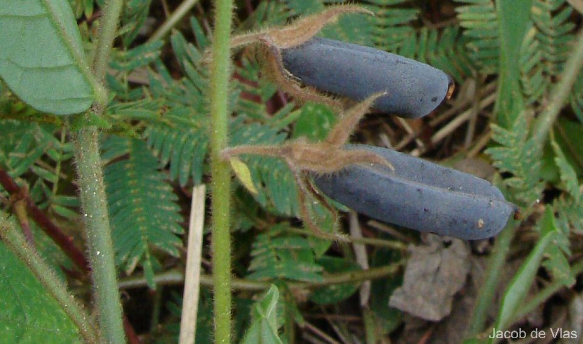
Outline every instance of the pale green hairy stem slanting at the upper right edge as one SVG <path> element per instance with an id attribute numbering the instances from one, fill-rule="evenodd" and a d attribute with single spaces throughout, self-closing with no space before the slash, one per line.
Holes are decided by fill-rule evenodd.
<path id="1" fill-rule="evenodd" d="M 583 30 L 577 36 L 577 44 L 565 64 L 559 83 L 553 87 L 550 93 L 549 104 L 546 106 L 545 111 L 540 114 L 539 120 L 533 129 L 532 137 L 536 142 L 536 147 L 542 147 L 550 128 L 559 117 L 561 108 L 563 108 L 563 104 L 577 80 L 581 66 L 583 66 Z"/>

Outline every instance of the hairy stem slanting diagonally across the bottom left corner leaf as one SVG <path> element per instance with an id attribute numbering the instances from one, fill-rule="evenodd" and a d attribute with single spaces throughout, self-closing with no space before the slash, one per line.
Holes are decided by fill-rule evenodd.
<path id="1" fill-rule="evenodd" d="M 57 300 L 61 309 L 75 323 L 83 340 L 87 343 L 99 342 L 97 332 L 87 321 L 86 311 L 71 297 L 71 294 L 69 294 L 61 280 L 57 278 L 51 267 L 40 258 L 13 224 L 6 220 L 3 213 L 0 213 L 0 238 L 28 266 L 47 292 Z"/>

